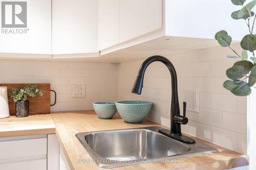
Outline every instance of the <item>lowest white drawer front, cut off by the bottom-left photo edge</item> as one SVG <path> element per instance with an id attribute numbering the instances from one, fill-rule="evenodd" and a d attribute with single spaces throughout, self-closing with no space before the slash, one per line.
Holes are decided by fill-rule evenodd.
<path id="1" fill-rule="evenodd" d="M 47 170 L 47 159 L 37 159 L 21 162 L 10 162 L 0 164 L 3 170 Z"/>

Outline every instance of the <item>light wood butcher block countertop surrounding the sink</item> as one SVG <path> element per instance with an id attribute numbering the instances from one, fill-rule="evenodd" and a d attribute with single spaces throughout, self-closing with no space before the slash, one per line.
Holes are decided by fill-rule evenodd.
<path id="1" fill-rule="evenodd" d="M 75 137 L 76 133 L 146 126 L 160 126 L 166 128 L 148 120 L 144 120 L 143 123 L 140 124 L 127 124 L 123 122 L 123 119 L 121 119 L 118 114 L 112 119 L 100 119 L 94 111 L 69 111 L 30 115 L 24 118 L 11 116 L 9 118 L 0 119 L 0 137 L 56 133 L 60 147 L 71 169 L 94 170 L 103 168 L 98 167 L 95 163 L 91 163 L 90 161 L 87 163 L 81 163 L 81 161 L 79 161 L 81 159 L 91 160 L 91 157 Z M 228 169 L 249 164 L 249 158 L 246 155 L 230 151 L 201 139 L 197 140 L 217 148 L 219 152 L 179 158 L 176 163 L 144 163 L 114 169 Z"/>

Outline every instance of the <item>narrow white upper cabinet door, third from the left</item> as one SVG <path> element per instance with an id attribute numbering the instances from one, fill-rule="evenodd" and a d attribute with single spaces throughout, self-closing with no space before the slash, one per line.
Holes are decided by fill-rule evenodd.
<path id="1" fill-rule="evenodd" d="M 119 0 L 98 0 L 98 50 L 119 43 Z"/>

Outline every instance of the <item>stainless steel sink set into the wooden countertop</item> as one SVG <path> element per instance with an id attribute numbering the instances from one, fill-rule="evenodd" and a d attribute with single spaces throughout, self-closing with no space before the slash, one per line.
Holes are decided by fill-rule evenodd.
<path id="1" fill-rule="evenodd" d="M 160 127 L 77 133 L 93 161 L 102 168 L 166 161 L 217 152 L 204 143 L 184 144 L 166 137 Z M 168 162 L 168 161 L 166 161 Z"/>

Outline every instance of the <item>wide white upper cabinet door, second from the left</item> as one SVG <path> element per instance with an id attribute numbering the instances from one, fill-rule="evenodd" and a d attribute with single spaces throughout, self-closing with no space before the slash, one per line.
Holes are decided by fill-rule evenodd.
<path id="1" fill-rule="evenodd" d="M 97 53 L 98 1 L 52 0 L 52 54 Z"/>

